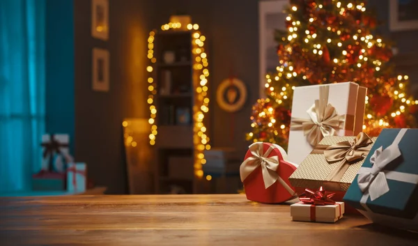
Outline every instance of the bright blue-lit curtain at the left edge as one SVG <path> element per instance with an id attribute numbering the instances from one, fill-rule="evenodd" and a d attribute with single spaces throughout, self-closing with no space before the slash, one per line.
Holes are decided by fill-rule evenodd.
<path id="1" fill-rule="evenodd" d="M 31 189 L 45 132 L 45 0 L 0 0 L 0 192 Z"/>

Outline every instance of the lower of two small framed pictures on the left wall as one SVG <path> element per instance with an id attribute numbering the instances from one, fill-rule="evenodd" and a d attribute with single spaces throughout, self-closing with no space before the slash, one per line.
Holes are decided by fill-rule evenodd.
<path id="1" fill-rule="evenodd" d="M 93 91 L 109 91 L 109 52 L 93 49 Z"/>

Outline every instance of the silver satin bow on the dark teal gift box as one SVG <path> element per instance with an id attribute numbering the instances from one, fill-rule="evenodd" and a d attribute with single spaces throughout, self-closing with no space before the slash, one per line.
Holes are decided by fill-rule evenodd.
<path id="1" fill-rule="evenodd" d="M 370 157 L 373 167 L 359 170 L 357 183 L 363 193 L 369 191 L 371 201 L 389 192 L 386 175 L 382 170 L 399 156 L 401 156 L 401 150 L 399 150 L 397 143 L 385 148 L 385 150 L 380 146 Z"/>

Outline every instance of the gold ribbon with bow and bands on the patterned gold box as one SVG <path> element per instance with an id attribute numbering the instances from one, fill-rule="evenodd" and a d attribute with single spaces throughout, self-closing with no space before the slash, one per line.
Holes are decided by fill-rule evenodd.
<path id="1" fill-rule="evenodd" d="M 326 181 L 339 182 L 346 173 L 350 164 L 362 160 L 369 153 L 373 141 L 370 137 L 360 132 L 357 137 L 350 141 L 341 141 L 331 146 L 318 144 L 311 154 L 323 154 L 327 162 L 339 162 L 328 174 Z"/>

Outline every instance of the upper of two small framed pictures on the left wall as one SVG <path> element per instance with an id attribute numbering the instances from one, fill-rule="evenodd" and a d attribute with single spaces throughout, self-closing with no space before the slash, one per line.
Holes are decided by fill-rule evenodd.
<path id="1" fill-rule="evenodd" d="M 91 0 L 91 36 L 109 38 L 109 0 Z"/>

